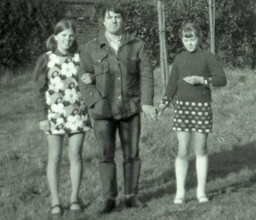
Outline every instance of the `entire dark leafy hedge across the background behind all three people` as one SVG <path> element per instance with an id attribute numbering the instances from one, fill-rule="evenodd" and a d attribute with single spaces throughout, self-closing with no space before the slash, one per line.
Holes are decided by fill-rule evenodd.
<path id="1" fill-rule="evenodd" d="M 155 1 L 156 2 L 156 1 Z M 92 20 L 103 3 L 95 3 Z M 141 1 L 121 3 L 127 11 L 125 29 L 148 44 L 153 65 L 160 62 L 156 4 Z M 215 53 L 225 66 L 255 67 L 256 5 L 254 0 L 215 0 Z M 60 0 L 5 0 L 0 3 L 0 65 L 13 67 L 29 61 L 44 50 L 46 38 L 61 18 Z M 168 61 L 183 51 L 179 28 L 197 22 L 209 49 L 208 4 L 206 0 L 166 1 Z"/>

